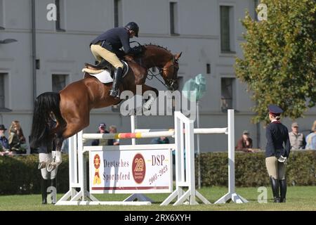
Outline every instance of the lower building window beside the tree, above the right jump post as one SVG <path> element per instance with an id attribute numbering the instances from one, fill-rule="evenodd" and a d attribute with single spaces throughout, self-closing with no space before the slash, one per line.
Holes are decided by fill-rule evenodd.
<path id="1" fill-rule="evenodd" d="M 222 111 L 233 108 L 234 92 L 235 92 L 235 78 L 222 78 L 221 85 L 221 99 L 220 108 Z"/>

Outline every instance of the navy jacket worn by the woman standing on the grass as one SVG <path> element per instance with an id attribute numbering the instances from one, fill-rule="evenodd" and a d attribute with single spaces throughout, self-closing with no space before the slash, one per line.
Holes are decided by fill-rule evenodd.
<path id="1" fill-rule="evenodd" d="M 275 156 L 279 158 L 279 156 L 282 155 L 289 158 L 291 144 L 287 127 L 279 121 L 271 122 L 267 126 L 265 136 L 267 138 L 265 157 Z"/>

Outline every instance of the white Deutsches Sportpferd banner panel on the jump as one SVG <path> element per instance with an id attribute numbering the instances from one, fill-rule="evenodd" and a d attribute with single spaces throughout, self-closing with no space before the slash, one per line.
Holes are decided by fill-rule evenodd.
<path id="1" fill-rule="evenodd" d="M 170 148 L 154 150 L 93 150 L 90 193 L 171 193 Z"/>

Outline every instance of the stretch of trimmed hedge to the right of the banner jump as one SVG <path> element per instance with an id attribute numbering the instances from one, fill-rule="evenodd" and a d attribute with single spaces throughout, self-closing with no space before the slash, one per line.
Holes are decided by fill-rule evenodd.
<path id="1" fill-rule="evenodd" d="M 316 151 L 292 151 L 287 163 L 287 184 L 316 185 L 315 167 Z M 195 172 L 197 175 L 197 169 Z M 201 184 L 228 186 L 228 153 L 201 154 Z M 240 187 L 270 185 L 264 152 L 235 154 L 235 184 Z"/>

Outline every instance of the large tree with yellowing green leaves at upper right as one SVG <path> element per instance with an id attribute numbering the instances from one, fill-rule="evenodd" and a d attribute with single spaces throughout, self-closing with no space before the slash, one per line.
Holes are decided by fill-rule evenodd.
<path id="1" fill-rule="evenodd" d="M 246 28 L 237 58 L 237 77 L 256 101 L 253 122 L 267 120 L 268 105 L 279 105 L 292 119 L 316 103 L 315 0 L 264 0 L 268 20 L 242 20 Z"/>

